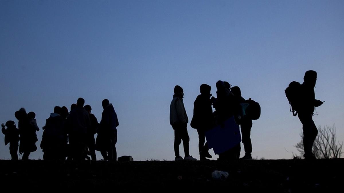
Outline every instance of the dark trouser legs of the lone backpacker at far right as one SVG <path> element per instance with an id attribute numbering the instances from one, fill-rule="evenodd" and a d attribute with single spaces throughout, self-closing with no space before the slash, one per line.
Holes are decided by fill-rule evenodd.
<path id="1" fill-rule="evenodd" d="M 304 156 L 313 156 L 312 148 L 318 129 L 313 122 L 312 114 L 298 113 L 298 116 L 302 123 Z"/>

